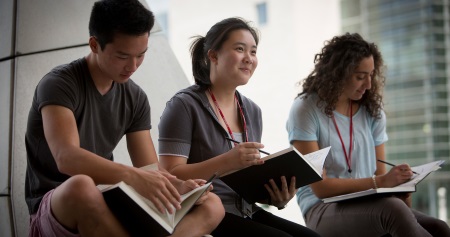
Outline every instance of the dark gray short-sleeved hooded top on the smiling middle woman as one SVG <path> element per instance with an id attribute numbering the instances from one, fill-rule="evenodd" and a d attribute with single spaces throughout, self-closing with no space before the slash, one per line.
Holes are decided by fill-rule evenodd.
<path id="1" fill-rule="evenodd" d="M 236 96 L 245 116 L 249 141 L 261 142 L 261 109 L 239 92 Z M 205 91 L 197 85 L 179 91 L 167 102 L 158 128 L 159 155 L 186 157 L 188 164 L 208 160 L 232 148 Z M 211 170 L 211 174 L 214 172 Z M 225 210 L 244 216 L 243 199 L 220 179 L 214 180 L 213 185 L 213 192 L 221 198 Z M 253 212 L 256 210 L 258 207 L 253 205 Z"/>

